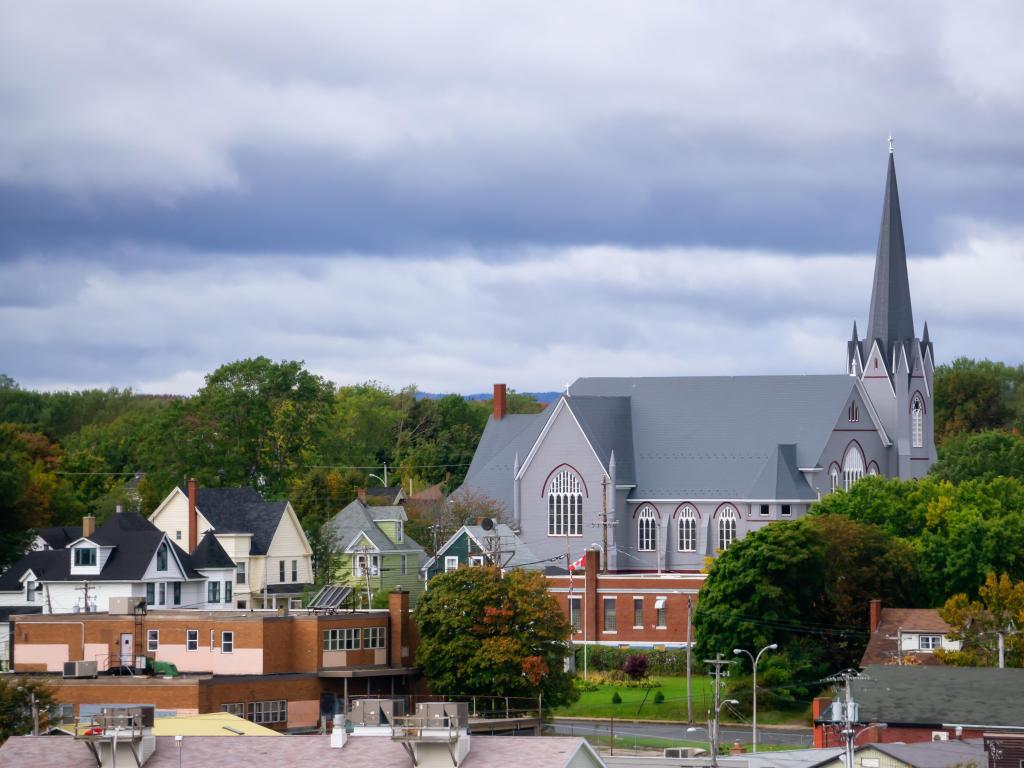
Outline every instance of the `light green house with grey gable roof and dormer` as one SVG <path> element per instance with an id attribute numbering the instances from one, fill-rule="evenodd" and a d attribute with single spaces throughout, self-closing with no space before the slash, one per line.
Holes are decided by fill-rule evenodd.
<path id="1" fill-rule="evenodd" d="M 328 581 L 354 587 L 364 602 L 367 591 L 373 602 L 374 595 L 401 587 L 415 606 L 423 594 L 420 570 L 427 553 L 406 536 L 408 520 L 401 505 L 369 505 L 360 489 L 351 504 L 324 523 L 333 551 Z"/>

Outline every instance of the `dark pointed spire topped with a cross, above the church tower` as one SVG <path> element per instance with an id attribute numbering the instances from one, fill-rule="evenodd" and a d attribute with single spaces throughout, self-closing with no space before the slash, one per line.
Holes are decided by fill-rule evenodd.
<path id="1" fill-rule="evenodd" d="M 871 308 L 867 315 L 867 336 L 864 341 L 870 344 L 879 339 L 888 356 L 894 344 L 913 337 L 906 247 L 903 244 L 903 221 L 899 212 L 899 190 L 896 188 L 896 163 L 890 138 L 886 200 L 882 207 Z"/>

